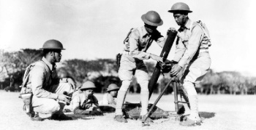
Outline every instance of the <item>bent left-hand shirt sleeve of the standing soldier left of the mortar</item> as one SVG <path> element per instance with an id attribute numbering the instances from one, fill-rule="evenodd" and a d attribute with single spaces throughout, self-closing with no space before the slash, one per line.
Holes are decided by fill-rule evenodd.
<path id="1" fill-rule="evenodd" d="M 140 33 L 138 29 L 132 31 L 129 37 L 129 52 L 131 53 L 132 57 L 138 58 L 139 60 L 148 60 L 149 53 L 139 51 L 138 43 L 140 39 Z"/>

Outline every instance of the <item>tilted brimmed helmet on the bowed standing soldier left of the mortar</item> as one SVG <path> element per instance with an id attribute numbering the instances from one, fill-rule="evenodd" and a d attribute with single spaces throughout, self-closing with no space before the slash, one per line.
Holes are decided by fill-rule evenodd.
<path id="1" fill-rule="evenodd" d="M 163 23 L 160 15 L 155 11 L 147 12 L 146 14 L 141 16 L 141 19 L 144 23 L 153 26 L 159 26 Z"/>

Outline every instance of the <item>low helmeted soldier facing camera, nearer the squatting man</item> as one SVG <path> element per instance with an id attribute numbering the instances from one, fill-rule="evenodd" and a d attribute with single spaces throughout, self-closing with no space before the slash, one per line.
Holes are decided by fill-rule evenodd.
<path id="1" fill-rule="evenodd" d="M 91 81 L 86 81 L 80 88 L 83 93 L 78 93 L 72 99 L 72 108 L 75 114 L 103 115 L 99 109 L 98 100 L 94 97 L 96 86 Z"/>

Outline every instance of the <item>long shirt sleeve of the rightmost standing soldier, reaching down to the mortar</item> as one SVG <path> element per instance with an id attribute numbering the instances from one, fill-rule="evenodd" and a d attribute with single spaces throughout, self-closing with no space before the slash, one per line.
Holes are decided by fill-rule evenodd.
<path id="1" fill-rule="evenodd" d="M 181 60 L 178 62 L 178 65 L 180 65 L 182 68 L 184 68 L 184 65 L 190 62 L 192 57 L 194 57 L 198 47 L 200 46 L 200 39 L 202 35 L 203 32 L 201 28 L 198 25 L 195 25 L 194 28 L 192 28 L 191 36 L 189 36 L 187 49 L 184 52 L 183 57 L 181 57 Z"/>

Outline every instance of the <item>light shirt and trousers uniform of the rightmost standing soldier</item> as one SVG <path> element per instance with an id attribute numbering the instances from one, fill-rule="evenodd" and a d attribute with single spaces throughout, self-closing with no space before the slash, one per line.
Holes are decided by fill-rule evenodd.
<path id="1" fill-rule="evenodd" d="M 191 109 L 189 112 L 187 107 L 186 114 L 190 114 L 189 118 L 193 121 L 200 121 L 195 84 L 202 80 L 211 66 L 211 57 L 208 53 L 210 45 L 208 31 L 204 32 L 198 23 L 188 20 L 184 27 L 178 29 L 177 41 L 173 60 L 177 61 L 181 68 L 184 68 L 181 84 L 183 84 Z"/>

